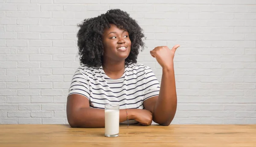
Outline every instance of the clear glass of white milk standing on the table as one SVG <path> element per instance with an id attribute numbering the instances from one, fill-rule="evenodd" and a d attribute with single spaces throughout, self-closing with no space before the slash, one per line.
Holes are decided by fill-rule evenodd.
<path id="1" fill-rule="evenodd" d="M 105 136 L 119 135 L 119 104 L 105 104 Z"/>

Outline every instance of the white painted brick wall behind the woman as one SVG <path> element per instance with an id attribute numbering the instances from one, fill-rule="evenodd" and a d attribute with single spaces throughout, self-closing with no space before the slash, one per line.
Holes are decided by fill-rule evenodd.
<path id="1" fill-rule="evenodd" d="M 67 124 L 76 24 L 119 8 L 145 31 L 138 58 L 180 44 L 172 124 L 256 124 L 255 0 L 1 0 L 0 124 Z"/>

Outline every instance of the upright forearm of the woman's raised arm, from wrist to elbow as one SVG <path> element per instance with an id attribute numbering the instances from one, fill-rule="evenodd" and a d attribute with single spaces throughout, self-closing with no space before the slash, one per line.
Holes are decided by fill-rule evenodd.
<path id="1" fill-rule="evenodd" d="M 160 93 L 154 108 L 153 121 L 157 124 L 168 126 L 176 113 L 177 94 L 173 66 L 163 68 Z"/>

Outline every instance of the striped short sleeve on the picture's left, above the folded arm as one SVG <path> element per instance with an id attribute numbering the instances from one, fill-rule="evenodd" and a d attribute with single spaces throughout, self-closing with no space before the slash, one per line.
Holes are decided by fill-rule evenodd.
<path id="1" fill-rule="evenodd" d="M 87 80 L 87 73 L 78 68 L 73 75 L 68 95 L 79 94 L 87 97 L 90 100 L 90 86 Z"/>

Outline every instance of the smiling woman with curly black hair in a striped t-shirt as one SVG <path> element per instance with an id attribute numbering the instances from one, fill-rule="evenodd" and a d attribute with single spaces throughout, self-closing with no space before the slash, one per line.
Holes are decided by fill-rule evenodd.
<path id="1" fill-rule="evenodd" d="M 79 27 L 81 66 L 67 98 L 70 126 L 105 127 L 105 104 L 120 105 L 120 123 L 151 125 L 154 121 L 168 126 L 177 107 L 173 58 L 179 45 L 150 51 L 162 66 L 160 85 L 148 66 L 137 64 L 144 35 L 129 14 L 112 9 Z"/>

